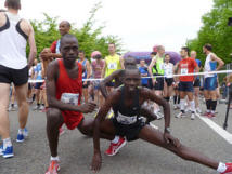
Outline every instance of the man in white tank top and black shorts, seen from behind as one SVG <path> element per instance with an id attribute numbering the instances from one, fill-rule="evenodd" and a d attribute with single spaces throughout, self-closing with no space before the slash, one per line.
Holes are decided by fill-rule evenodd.
<path id="1" fill-rule="evenodd" d="M 28 118 L 27 90 L 28 69 L 37 54 L 33 26 L 18 15 L 20 0 L 5 0 L 8 12 L 0 13 L 0 135 L 3 144 L 0 155 L 13 157 L 8 113 L 10 84 L 13 82 L 18 105 L 20 129 L 16 142 L 24 142 Z M 29 57 L 26 58 L 27 40 Z"/>

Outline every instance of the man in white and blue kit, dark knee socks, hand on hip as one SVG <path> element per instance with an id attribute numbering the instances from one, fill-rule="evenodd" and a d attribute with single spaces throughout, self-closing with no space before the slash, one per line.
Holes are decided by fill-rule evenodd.
<path id="1" fill-rule="evenodd" d="M 220 70 L 224 62 L 219 58 L 215 53 L 211 52 L 211 44 L 205 44 L 203 46 L 203 52 L 207 55 L 204 66 L 204 72 L 211 72 Z M 217 67 L 218 64 L 218 67 Z M 204 80 L 204 96 L 206 101 L 206 117 L 215 117 L 215 110 L 217 107 L 217 75 L 216 73 L 206 73 Z"/>

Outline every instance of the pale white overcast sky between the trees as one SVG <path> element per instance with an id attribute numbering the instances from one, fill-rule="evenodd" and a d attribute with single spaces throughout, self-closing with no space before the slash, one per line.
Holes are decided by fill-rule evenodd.
<path id="1" fill-rule="evenodd" d="M 43 19 L 42 13 L 67 19 L 80 28 L 100 0 L 21 0 L 21 16 Z M 179 52 L 188 39 L 194 39 L 202 16 L 212 9 L 212 0 L 101 0 L 95 25 L 105 25 L 103 35 L 121 38 L 127 51 L 152 51 L 156 44 Z M 0 0 L 0 9 L 4 0 Z"/>

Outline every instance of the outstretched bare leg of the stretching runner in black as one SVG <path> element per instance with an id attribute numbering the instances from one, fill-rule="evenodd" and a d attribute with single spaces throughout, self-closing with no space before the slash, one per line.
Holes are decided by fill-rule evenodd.
<path id="1" fill-rule="evenodd" d="M 218 168 L 219 163 L 217 161 L 203 156 L 202 152 L 197 152 L 184 145 L 180 145 L 180 147 L 175 147 L 172 144 L 167 145 L 164 139 L 164 134 L 150 125 L 141 130 L 139 137 L 145 142 L 166 148 L 184 160 L 194 161 L 215 170 Z"/>

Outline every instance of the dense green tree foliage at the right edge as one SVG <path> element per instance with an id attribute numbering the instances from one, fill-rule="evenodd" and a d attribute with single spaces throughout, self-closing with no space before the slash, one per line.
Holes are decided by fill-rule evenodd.
<path id="1" fill-rule="evenodd" d="M 198 53 L 198 58 L 205 61 L 202 48 L 205 43 L 212 45 L 214 52 L 225 63 L 231 63 L 232 27 L 228 26 L 228 18 L 232 17 L 231 0 L 214 0 L 212 10 L 202 17 L 203 27 L 197 38 L 188 40 L 191 50 Z"/>

